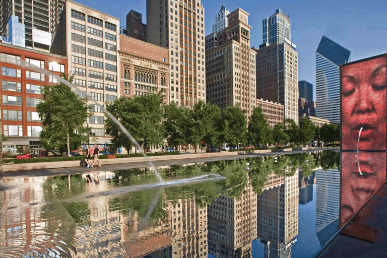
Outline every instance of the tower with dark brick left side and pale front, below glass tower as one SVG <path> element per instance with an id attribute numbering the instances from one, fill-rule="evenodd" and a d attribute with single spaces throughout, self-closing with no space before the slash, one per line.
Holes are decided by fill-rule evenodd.
<path id="1" fill-rule="evenodd" d="M 298 53 L 291 43 L 262 44 L 256 54 L 256 96 L 284 105 L 298 124 Z"/>

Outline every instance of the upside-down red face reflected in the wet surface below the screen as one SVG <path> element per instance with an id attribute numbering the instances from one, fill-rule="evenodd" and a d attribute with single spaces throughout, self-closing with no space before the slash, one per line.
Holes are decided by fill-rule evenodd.
<path id="1" fill-rule="evenodd" d="M 386 173 L 385 152 L 342 152 L 341 155 L 340 227 L 381 187 Z"/>

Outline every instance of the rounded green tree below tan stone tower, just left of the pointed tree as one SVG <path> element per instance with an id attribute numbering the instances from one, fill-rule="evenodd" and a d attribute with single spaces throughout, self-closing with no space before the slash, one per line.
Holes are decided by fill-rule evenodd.
<path id="1" fill-rule="evenodd" d="M 245 110 L 239 106 L 226 107 L 221 115 L 222 141 L 234 145 L 244 144 L 247 138 L 246 125 Z"/>

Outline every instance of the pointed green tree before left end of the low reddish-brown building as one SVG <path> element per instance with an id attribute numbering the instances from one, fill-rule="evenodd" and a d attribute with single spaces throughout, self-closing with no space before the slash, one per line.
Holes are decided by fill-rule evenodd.
<path id="1" fill-rule="evenodd" d="M 248 122 L 248 139 L 253 145 L 266 144 L 271 142 L 271 129 L 268 124 L 268 119 L 262 113 L 262 108 L 257 106 L 252 111 Z"/>

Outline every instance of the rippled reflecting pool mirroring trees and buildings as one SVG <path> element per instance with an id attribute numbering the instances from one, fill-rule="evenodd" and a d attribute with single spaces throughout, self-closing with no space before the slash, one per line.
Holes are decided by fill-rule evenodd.
<path id="1" fill-rule="evenodd" d="M 159 168 L 164 184 L 149 169 L 4 181 L 0 257 L 315 257 L 339 229 L 339 160 L 178 165 Z"/>

